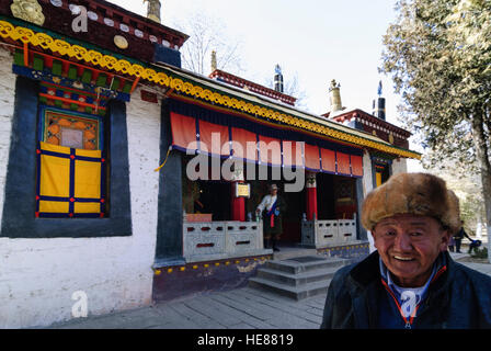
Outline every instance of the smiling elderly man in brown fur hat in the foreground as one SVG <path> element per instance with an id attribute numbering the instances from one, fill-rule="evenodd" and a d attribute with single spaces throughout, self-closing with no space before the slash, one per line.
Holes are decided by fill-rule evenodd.
<path id="1" fill-rule="evenodd" d="M 491 328 L 491 278 L 452 260 L 458 199 L 431 174 L 402 173 L 365 199 L 377 250 L 336 272 L 321 328 Z"/>

